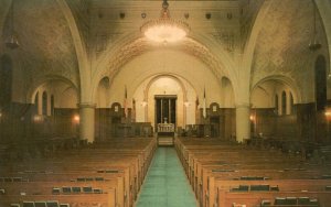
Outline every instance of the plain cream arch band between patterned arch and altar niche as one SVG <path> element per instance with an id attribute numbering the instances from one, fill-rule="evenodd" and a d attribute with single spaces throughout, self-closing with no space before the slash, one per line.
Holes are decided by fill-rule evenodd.
<path id="1" fill-rule="evenodd" d="M 162 58 L 163 56 L 167 56 L 167 61 Z M 180 64 L 175 64 L 178 59 L 181 61 Z M 162 68 L 166 68 L 166 70 Z M 204 69 L 206 69 L 206 72 L 204 72 Z M 122 76 L 122 73 L 125 73 L 126 76 Z M 201 62 L 201 59 L 183 51 L 172 48 L 145 51 L 143 54 L 136 56 L 130 59 L 130 62 L 122 65 L 118 74 L 113 77 L 111 80 L 109 78 L 109 74 L 103 76 L 103 78 L 109 78 L 110 88 L 120 85 L 115 94 L 118 94 L 118 89 L 122 91 L 120 88 L 124 88 L 125 83 L 130 83 L 130 87 L 128 87 L 128 95 L 130 97 L 134 91 L 132 88 L 138 87 L 146 78 L 164 73 L 185 79 L 185 81 L 193 85 L 192 87 L 194 87 L 194 90 L 199 94 L 199 96 L 203 94 L 204 85 L 211 81 L 211 79 L 206 79 L 204 77 L 212 78 L 213 87 L 221 87 L 221 80 L 213 75 L 207 65 Z M 135 76 L 132 76 L 132 74 L 135 74 Z M 207 75 L 204 76 L 204 74 Z M 118 78 L 121 80 L 118 81 Z M 210 85 L 206 85 L 206 87 L 212 89 Z M 97 88 L 94 88 L 93 97 L 96 96 L 96 90 Z M 115 94 L 113 95 L 118 97 L 118 95 Z M 113 99 L 113 95 L 110 96 L 110 99 Z M 217 98 L 218 96 L 215 97 L 216 100 L 214 101 L 217 101 Z M 116 101 L 121 101 L 121 99 L 117 98 Z"/>

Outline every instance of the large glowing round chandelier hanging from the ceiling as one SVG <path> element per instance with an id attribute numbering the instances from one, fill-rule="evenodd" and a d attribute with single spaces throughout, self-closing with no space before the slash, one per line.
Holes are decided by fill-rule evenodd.
<path id="1" fill-rule="evenodd" d="M 182 40 L 190 32 L 188 23 L 170 18 L 168 7 L 169 3 L 163 0 L 160 19 L 147 21 L 140 28 L 147 39 L 167 44 Z"/>

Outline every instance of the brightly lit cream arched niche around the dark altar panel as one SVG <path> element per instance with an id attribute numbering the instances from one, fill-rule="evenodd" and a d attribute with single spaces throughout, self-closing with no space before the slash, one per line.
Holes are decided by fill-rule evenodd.
<path id="1" fill-rule="evenodd" d="M 173 97 L 171 95 L 177 95 L 177 123 L 182 127 L 195 123 L 194 102 L 197 97 L 196 88 L 181 75 L 154 73 L 143 77 L 143 79 L 140 79 L 135 86 L 132 92 L 130 91 L 130 87 L 128 91 L 129 95 L 131 95 L 129 99 L 135 99 L 137 121 L 150 121 L 154 123 L 156 102 L 153 95 L 170 95 L 170 97 Z"/>

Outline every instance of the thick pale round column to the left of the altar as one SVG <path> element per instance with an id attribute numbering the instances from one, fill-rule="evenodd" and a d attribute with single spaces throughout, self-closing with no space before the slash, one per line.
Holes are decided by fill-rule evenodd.
<path id="1" fill-rule="evenodd" d="M 79 103 L 79 138 L 86 139 L 88 143 L 95 138 L 95 103 Z"/>

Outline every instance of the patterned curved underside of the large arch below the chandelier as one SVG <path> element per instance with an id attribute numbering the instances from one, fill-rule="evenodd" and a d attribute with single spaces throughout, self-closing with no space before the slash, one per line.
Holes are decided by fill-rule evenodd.
<path id="1" fill-rule="evenodd" d="M 111 83 L 119 69 L 132 57 L 158 48 L 158 45 L 141 37 L 140 33 L 124 35 L 111 47 L 108 46 L 98 58 L 98 64 L 95 66 L 96 70 L 93 74 L 93 94 L 95 94 L 97 84 L 103 77 L 108 76 Z M 168 48 L 184 51 L 186 54 L 199 58 L 218 78 L 226 75 L 232 81 L 237 79 L 233 58 L 224 51 L 222 45 L 215 43 L 215 40 L 203 35 L 191 35 L 177 45 L 168 45 Z"/>

